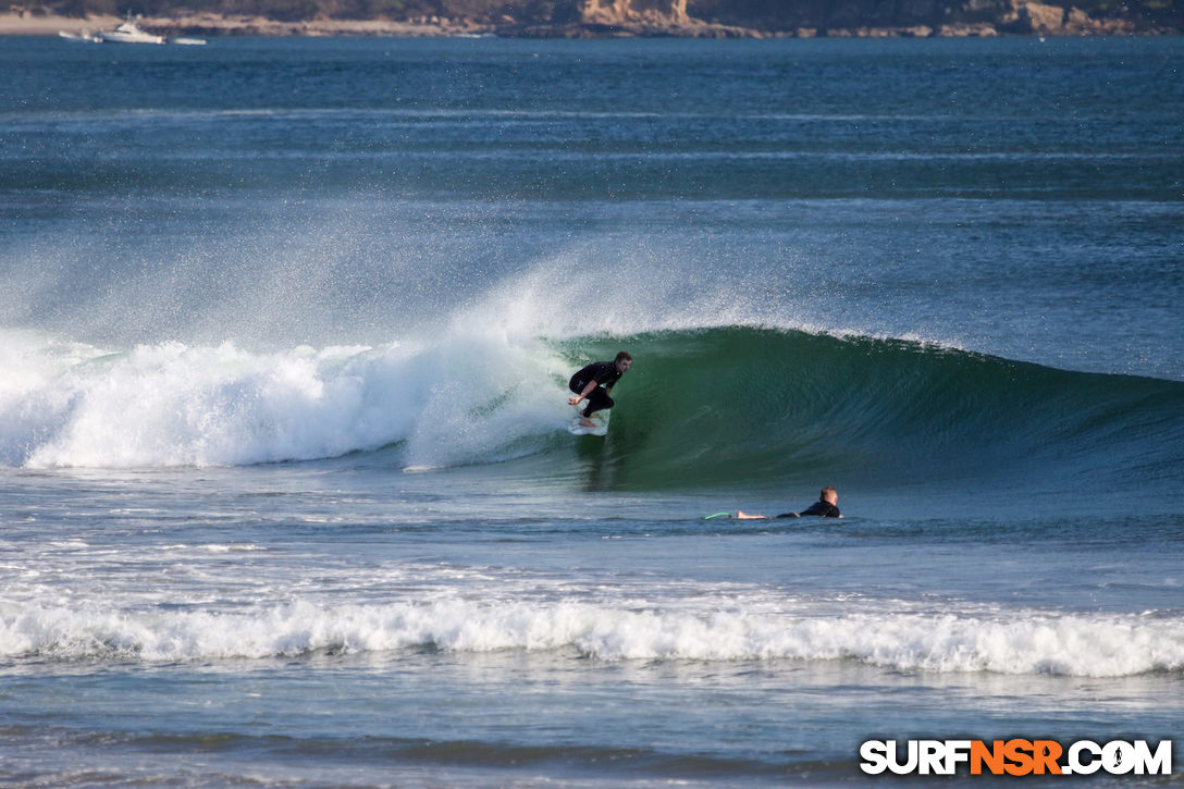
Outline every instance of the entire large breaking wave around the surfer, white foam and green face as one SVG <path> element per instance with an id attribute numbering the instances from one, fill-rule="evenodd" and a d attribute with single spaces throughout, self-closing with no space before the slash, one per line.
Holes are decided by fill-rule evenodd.
<path id="1" fill-rule="evenodd" d="M 919 341 L 727 326 L 387 346 L 166 342 L 108 352 L 0 338 L 0 463 L 238 466 L 379 453 L 403 468 L 591 457 L 618 488 L 868 483 L 1034 469 L 1180 481 L 1184 383 L 1082 373 Z M 566 379 L 631 351 L 603 441 L 565 431 Z M 556 470 L 558 469 L 558 470 Z"/>

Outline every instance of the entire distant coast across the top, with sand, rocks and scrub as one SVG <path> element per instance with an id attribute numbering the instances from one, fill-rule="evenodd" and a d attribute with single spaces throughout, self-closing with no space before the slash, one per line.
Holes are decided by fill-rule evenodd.
<path id="1" fill-rule="evenodd" d="M 14 5 L 0 33 L 116 24 L 124 0 Z M 1179 34 L 1184 8 L 1034 0 L 189 0 L 141 14 L 167 36 L 501 36 L 536 38 L 992 37 Z"/>

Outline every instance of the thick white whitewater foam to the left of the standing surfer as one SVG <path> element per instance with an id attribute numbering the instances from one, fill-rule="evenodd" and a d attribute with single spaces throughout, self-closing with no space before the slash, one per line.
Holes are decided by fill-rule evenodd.
<path id="1" fill-rule="evenodd" d="M 497 332 L 255 353 L 232 342 L 107 353 L 0 332 L 0 463 L 237 466 L 405 442 L 407 463 L 497 456 L 564 424 L 564 364 Z"/>

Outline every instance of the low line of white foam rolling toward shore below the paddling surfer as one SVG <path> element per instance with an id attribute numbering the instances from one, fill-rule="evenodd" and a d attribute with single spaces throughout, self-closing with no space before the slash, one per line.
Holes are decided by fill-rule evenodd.
<path id="1" fill-rule="evenodd" d="M 1138 615 L 626 609 L 463 599 L 296 602 L 253 611 L 69 610 L 0 616 L 9 659 L 149 663 L 439 649 L 570 650 L 605 661 L 835 661 L 899 671 L 1113 678 L 1184 669 L 1184 623 Z"/>

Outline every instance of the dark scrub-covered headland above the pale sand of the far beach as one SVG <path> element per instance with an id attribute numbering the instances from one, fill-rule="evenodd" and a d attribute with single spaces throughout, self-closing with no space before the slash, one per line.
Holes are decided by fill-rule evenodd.
<path id="1" fill-rule="evenodd" d="M 1184 31 L 1184 0 L 25 0 L 13 11 L 76 18 L 131 14 L 157 20 L 384 20 L 453 31 L 568 37 Z"/>

